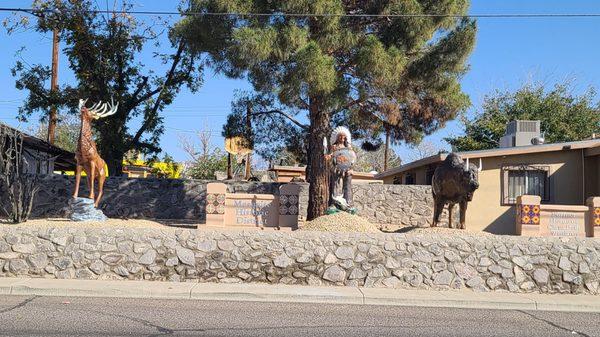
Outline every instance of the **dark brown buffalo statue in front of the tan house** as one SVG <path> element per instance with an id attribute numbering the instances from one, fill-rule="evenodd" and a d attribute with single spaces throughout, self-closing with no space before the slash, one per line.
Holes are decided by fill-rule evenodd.
<path id="1" fill-rule="evenodd" d="M 475 164 L 469 164 L 468 159 L 463 162 L 456 153 L 448 154 L 446 160 L 435 169 L 431 181 L 434 200 L 433 227 L 437 226 L 440 214 L 448 204 L 448 227 L 452 228 L 452 210 L 454 204 L 459 204 L 460 228 L 465 229 L 467 202 L 473 199 L 473 192 L 479 188 L 479 171 L 481 171 L 481 160 L 477 167 Z"/>

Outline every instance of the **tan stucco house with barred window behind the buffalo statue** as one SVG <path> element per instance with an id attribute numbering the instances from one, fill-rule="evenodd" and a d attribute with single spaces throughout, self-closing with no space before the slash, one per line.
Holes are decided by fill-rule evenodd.
<path id="1" fill-rule="evenodd" d="M 459 152 L 482 169 L 479 189 L 467 210 L 468 230 L 515 234 L 515 204 L 520 195 L 539 195 L 542 204 L 563 205 L 584 205 L 588 197 L 600 196 L 600 139 L 522 145 L 511 142 L 517 137 L 511 138 L 509 132 L 519 135 L 518 128 L 508 130 L 501 142 L 506 147 Z M 536 143 L 536 138 L 530 140 Z M 375 179 L 385 184 L 430 185 L 435 168 L 446 156 L 440 153 L 401 165 Z"/>

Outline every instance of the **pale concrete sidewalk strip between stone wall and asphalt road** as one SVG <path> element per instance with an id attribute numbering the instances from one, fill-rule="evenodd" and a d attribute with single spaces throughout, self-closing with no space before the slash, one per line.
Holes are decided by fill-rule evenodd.
<path id="1" fill-rule="evenodd" d="M 470 290 L 431 291 L 270 284 L 0 278 L 0 295 L 309 302 L 600 312 L 600 296 L 593 295 L 481 293 Z"/>

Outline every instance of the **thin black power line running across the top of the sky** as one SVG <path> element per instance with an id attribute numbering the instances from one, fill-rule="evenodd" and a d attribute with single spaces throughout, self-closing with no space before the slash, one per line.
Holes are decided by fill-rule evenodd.
<path id="1" fill-rule="evenodd" d="M 9 8 L 0 7 L 0 11 L 4 12 L 25 12 L 30 14 L 39 13 L 56 13 L 56 11 L 36 10 L 33 8 Z M 337 14 L 337 13 L 211 13 L 211 12 L 173 12 L 173 11 L 110 11 L 110 10 L 83 10 L 93 14 L 112 14 L 122 13 L 131 15 L 179 15 L 179 16 L 237 16 L 237 17 L 268 17 L 268 16 L 285 16 L 285 17 L 347 17 L 347 18 L 596 18 L 600 17 L 600 13 L 506 13 L 506 14 Z"/>

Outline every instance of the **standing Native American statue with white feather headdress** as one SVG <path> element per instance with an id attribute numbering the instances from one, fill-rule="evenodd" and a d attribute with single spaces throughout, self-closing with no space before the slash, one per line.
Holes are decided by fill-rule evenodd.
<path id="1" fill-rule="evenodd" d="M 335 128 L 331 133 L 329 143 L 329 153 L 325 154 L 325 159 L 331 160 L 333 164 L 329 178 L 330 209 L 354 213 L 352 166 L 356 162 L 356 153 L 352 150 L 350 130 L 343 126 Z"/>

